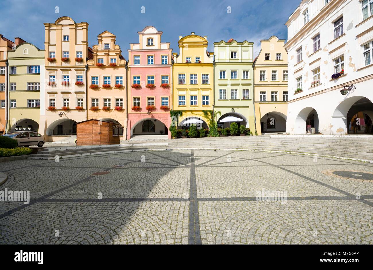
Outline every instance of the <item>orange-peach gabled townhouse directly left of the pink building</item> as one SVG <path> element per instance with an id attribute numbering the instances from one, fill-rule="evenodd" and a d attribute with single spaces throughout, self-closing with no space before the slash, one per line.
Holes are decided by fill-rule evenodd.
<path id="1" fill-rule="evenodd" d="M 88 119 L 120 124 L 123 129 L 119 135 L 123 138 L 127 125 L 127 61 L 115 44 L 115 35 L 104 31 L 97 37 L 93 58 L 87 61 Z"/>

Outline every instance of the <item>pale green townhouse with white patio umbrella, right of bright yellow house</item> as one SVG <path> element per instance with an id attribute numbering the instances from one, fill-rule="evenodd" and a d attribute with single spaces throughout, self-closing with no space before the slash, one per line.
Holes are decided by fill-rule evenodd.
<path id="1" fill-rule="evenodd" d="M 255 134 L 253 91 L 253 42 L 214 42 L 214 109 L 220 111 L 218 127 L 229 127 L 220 120 L 227 116 L 242 119 L 244 125 Z"/>

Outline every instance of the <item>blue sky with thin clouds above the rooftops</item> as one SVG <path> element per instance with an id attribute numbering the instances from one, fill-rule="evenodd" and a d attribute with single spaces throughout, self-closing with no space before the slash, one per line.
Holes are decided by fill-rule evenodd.
<path id="1" fill-rule="evenodd" d="M 207 35 L 209 51 L 213 42 L 247 40 L 254 43 L 254 56 L 260 50 L 260 39 L 272 35 L 287 39 L 285 22 L 300 0 L 12 0 L 0 3 L 0 34 L 13 40 L 18 36 L 44 48 L 44 22 L 69 16 L 75 22 L 88 22 L 88 42 L 97 44 L 97 35 L 107 30 L 117 36 L 127 59 L 129 43 L 138 42 L 138 31 L 153 25 L 163 31 L 162 42 L 170 42 L 179 53 L 179 35 L 191 32 Z M 77 4 L 78 3 L 78 4 Z M 114 4 L 113 4 L 114 3 Z M 56 14 L 55 7 L 59 7 Z M 109 6 L 115 6 L 112 9 Z M 145 13 L 141 13 L 145 7 Z M 231 7 L 231 13 L 228 13 Z"/>

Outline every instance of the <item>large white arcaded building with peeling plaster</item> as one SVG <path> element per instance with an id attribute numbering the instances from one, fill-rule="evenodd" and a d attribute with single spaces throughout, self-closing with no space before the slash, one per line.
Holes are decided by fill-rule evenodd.
<path id="1" fill-rule="evenodd" d="M 286 132 L 348 134 L 355 118 L 361 118 L 358 133 L 367 131 L 373 120 L 373 0 L 303 0 L 286 26 Z M 342 95 L 344 85 L 355 89 Z"/>

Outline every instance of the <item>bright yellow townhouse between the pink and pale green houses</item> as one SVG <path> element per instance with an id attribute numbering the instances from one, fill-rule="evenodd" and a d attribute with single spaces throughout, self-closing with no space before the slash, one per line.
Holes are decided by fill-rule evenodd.
<path id="1" fill-rule="evenodd" d="M 213 109 L 214 53 L 207 51 L 207 44 L 207 36 L 198 36 L 192 32 L 188 36 L 179 36 L 180 53 L 172 54 L 172 110 L 183 111 L 179 126 L 184 126 L 185 121 L 191 123 L 197 120 L 197 128 L 201 128 L 198 120 L 202 120 L 202 126 L 208 127 L 209 120 L 203 116 L 202 111 Z"/>

